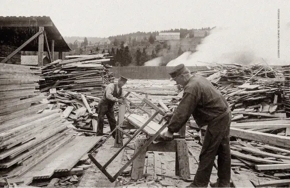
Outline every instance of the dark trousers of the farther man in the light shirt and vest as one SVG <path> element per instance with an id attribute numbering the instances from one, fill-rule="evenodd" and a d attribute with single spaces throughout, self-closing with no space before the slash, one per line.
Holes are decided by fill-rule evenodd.
<path id="1" fill-rule="evenodd" d="M 98 125 L 97 125 L 97 136 L 103 135 L 104 128 L 104 118 L 105 115 L 108 118 L 111 131 L 116 128 L 116 119 L 114 113 L 114 103 L 107 103 L 103 99 L 99 101 L 98 104 Z M 113 138 L 115 138 L 116 131 L 112 133 Z"/>

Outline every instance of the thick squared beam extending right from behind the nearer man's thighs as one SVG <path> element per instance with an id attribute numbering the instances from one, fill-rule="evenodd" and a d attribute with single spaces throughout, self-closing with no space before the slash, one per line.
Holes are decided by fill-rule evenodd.
<path id="1" fill-rule="evenodd" d="M 267 144 L 290 148 L 289 136 L 281 136 L 281 135 L 276 135 L 276 134 L 250 131 L 250 130 L 244 130 L 244 129 L 233 128 L 233 127 L 231 127 L 230 129 L 230 136 L 235 136 L 235 137 L 244 138 L 248 140 L 254 140 L 258 142 L 264 142 Z"/>

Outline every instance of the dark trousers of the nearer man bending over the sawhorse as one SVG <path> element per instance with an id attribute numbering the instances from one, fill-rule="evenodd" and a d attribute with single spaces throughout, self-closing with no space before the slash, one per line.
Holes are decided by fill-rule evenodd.
<path id="1" fill-rule="evenodd" d="M 199 156 L 199 166 L 190 187 L 206 188 L 210 181 L 215 158 L 218 155 L 219 186 L 229 187 L 231 179 L 230 125 L 232 114 L 209 123 L 203 147 Z"/>

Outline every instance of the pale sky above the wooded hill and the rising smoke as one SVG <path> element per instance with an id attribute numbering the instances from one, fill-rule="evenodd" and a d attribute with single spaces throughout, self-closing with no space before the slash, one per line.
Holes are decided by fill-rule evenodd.
<path id="1" fill-rule="evenodd" d="M 277 8 L 290 12 L 290 0 L 2 0 L 0 15 L 50 16 L 63 36 L 109 37 L 243 25 L 253 19 L 277 19 L 271 13 Z"/>

